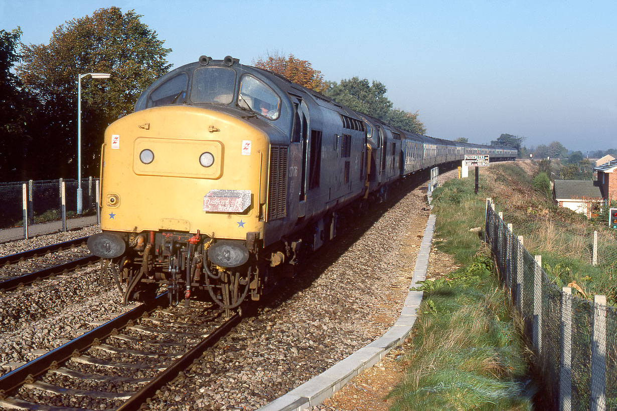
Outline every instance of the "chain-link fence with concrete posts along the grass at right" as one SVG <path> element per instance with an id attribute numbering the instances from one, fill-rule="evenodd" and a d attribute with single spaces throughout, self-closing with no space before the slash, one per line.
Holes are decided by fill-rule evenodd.
<path id="1" fill-rule="evenodd" d="M 486 242 L 523 318 L 549 393 L 548 409 L 617 410 L 615 307 L 605 296 L 589 301 L 553 284 L 542 257 L 524 248 L 524 238 L 500 214 L 487 198 Z"/>

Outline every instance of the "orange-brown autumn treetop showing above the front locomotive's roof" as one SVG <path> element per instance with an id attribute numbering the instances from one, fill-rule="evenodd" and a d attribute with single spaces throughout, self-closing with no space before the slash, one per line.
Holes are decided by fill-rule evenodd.
<path id="1" fill-rule="evenodd" d="M 259 57 L 257 61 L 253 60 L 252 65 L 273 71 L 293 83 L 318 92 L 323 92 L 328 87 L 323 81 L 321 71 L 315 70 L 309 60 L 297 59 L 293 54 L 285 57 L 276 51 L 272 54 L 267 52 L 265 59 Z"/>

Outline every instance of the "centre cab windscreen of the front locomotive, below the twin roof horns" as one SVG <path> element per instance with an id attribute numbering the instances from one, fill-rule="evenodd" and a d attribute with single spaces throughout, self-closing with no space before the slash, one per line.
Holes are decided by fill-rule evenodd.
<path id="1" fill-rule="evenodd" d="M 191 101 L 230 104 L 233 101 L 236 71 L 224 67 L 202 67 L 193 73 Z"/>

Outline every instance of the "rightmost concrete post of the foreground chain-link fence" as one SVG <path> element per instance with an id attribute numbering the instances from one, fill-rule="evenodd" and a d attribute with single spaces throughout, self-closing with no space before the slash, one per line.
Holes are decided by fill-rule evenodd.
<path id="1" fill-rule="evenodd" d="M 591 396 L 590 410 L 607 409 L 607 296 L 594 296 L 591 328 Z"/>

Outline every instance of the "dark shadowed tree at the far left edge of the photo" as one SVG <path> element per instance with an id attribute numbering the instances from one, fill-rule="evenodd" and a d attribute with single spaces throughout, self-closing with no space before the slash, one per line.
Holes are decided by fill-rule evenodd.
<path id="1" fill-rule="evenodd" d="M 25 180 L 24 158 L 34 112 L 33 100 L 22 91 L 22 83 L 11 72 L 19 62 L 17 52 L 22 30 L 0 30 L 0 181 Z"/>

